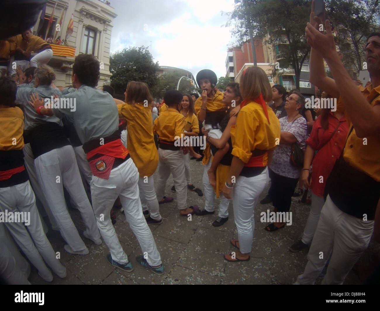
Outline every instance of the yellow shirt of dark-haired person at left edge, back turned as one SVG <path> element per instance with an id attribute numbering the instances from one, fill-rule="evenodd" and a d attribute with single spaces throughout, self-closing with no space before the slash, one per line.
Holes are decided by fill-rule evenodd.
<path id="1" fill-rule="evenodd" d="M 24 113 L 19 107 L 0 108 L 0 150 L 24 147 Z"/>

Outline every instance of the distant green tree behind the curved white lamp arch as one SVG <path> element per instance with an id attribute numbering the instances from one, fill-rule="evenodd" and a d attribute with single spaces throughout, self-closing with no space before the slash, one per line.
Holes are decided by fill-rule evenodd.
<path id="1" fill-rule="evenodd" d="M 176 90 L 180 77 L 184 76 L 183 73 L 164 73 L 158 76 L 157 84 L 154 85 L 151 92 L 156 98 L 163 98 L 167 90 Z M 194 85 L 188 80 L 183 78 L 179 83 L 179 92 L 193 93 L 195 91 Z"/>

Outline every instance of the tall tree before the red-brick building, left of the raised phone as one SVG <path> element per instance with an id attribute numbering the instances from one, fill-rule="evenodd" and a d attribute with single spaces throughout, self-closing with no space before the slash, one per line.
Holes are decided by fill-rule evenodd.
<path id="1" fill-rule="evenodd" d="M 235 23 L 232 33 L 237 35 L 237 41 L 241 44 L 249 39 L 250 20 L 253 37 L 261 38 L 276 47 L 279 67 L 293 66 L 296 87 L 299 88 L 302 64 L 310 52 L 305 27 L 309 21 L 311 1 L 251 0 L 244 3 L 241 1 L 235 4 L 233 12 L 228 13 L 230 19 L 226 25 Z M 275 66 L 273 68 L 275 75 L 278 69 Z M 281 74 L 281 71 L 278 73 Z"/>

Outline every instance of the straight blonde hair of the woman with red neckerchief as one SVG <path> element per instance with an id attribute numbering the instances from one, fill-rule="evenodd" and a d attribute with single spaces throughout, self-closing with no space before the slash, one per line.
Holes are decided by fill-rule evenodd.
<path id="1" fill-rule="evenodd" d="M 244 99 L 259 97 L 261 93 L 265 102 L 272 100 L 272 88 L 268 76 L 257 66 L 245 69 L 240 81 L 240 91 Z"/>

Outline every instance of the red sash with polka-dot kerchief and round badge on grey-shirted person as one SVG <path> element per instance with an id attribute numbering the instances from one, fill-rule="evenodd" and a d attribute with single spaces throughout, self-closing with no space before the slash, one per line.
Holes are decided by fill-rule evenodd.
<path id="1" fill-rule="evenodd" d="M 125 159 L 129 152 L 119 138 L 87 152 L 87 160 L 98 153 L 100 153 L 101 156 L 89 161 L 91 172 L 96 177 L 108 179 L 115 158 Z"/>

